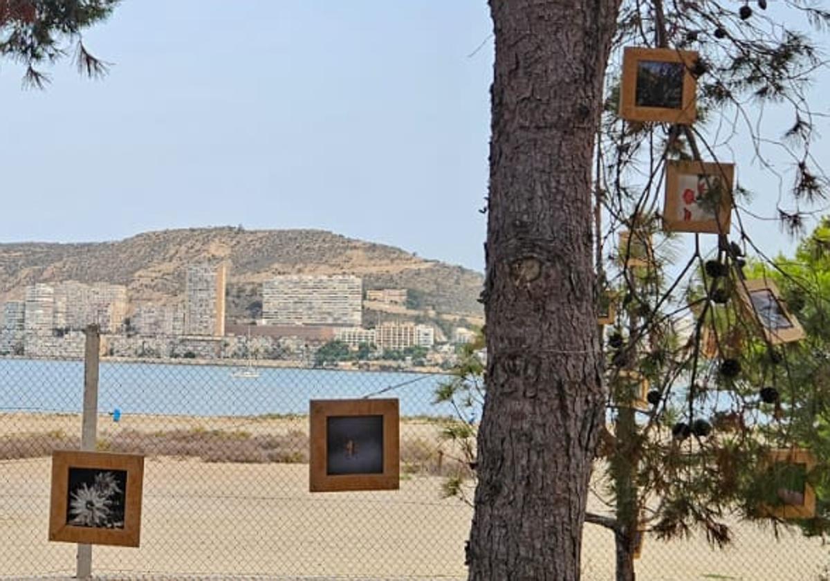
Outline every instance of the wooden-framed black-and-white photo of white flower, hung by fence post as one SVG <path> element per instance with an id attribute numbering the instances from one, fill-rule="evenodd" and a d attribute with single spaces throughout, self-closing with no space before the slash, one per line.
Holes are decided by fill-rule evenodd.
<path id="1" fill-rule="evenodd" d="M 52 452 L 49 540 L 138 547 L 144 457 Z"/>

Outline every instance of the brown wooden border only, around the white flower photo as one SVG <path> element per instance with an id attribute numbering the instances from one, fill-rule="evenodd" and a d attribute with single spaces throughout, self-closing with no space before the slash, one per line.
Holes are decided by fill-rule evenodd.
<path id="1" fill-rule="evenodd" d="M 144 486 L 144 457 L 110 452 L 52 452 L 49 540 L 82 544 L 115 544 L 138 547 L 141 540 L 141 498 Z M 66 497 L 70 468 L 97 468 L 127 472 L 123 529 L 96 529 L 66 524 Z"/>

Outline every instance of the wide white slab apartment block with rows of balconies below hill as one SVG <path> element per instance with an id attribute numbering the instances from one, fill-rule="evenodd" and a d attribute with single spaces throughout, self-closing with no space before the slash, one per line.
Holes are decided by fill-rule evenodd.
<path id="1" fill-rule="evenodd" d="M 275 276 L 262 286 L 262 319 L 266 325 L 359 327 L 362 298 L 358 276 Z"/>

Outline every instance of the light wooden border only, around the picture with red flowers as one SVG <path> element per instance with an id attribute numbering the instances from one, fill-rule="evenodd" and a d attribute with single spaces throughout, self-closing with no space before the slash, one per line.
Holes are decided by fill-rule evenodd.
<path id="1" fill-rule="evenodd" d="M 720 199 L 718 217 L 714 220 L 684 222 L 676 218 L 680 200 L 676 195 L 681 175 L 719 176 L 725 183 L 725 195 Z M 706 232 L 728 234 L 732 217 L 732 188 L 735 183 L 735 164 L 714 164 L 701 161 L 666 162 L 666 197 L 663 203 L 663 230 L 666 232 Z M 720 226 L 720 227 L 719 227 Z"/>

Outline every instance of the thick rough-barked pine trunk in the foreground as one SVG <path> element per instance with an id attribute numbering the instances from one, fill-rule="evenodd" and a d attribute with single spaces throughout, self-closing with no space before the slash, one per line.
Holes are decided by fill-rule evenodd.
<path id="1" fill-rule="evenodd" d="M 604 418 L 591 168 L 618 0 L 490 0 L 496 65 L 470 579 L 575 581 Z"/>

